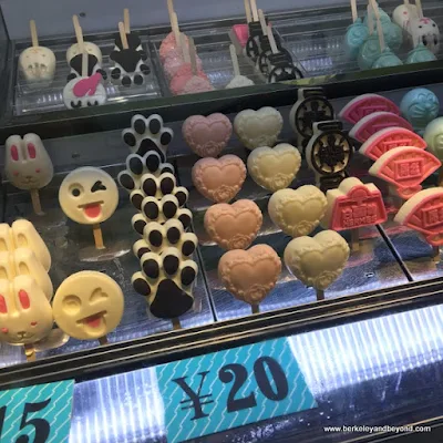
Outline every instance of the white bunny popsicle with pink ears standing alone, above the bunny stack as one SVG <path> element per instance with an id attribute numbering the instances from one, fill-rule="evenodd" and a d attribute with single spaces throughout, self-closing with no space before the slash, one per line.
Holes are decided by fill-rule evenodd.
<path id="1" fill-rule="evenodd" d="M 37 134 L 11 135 L 6 143 L 4 169 L 12 185 L 31 193 L 34 212 L 42 215 L 39 189 L 51 182 L 54 168 L 41 138 Z"/>

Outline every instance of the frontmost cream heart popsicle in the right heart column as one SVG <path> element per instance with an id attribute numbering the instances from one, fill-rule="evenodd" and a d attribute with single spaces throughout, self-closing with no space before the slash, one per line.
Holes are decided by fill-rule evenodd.
<path id="1" fill-rule="evenodd" d="M 334 230 L 323 230 L 311 237 L 291 240 L 285 249 L 285 264 L 303 285 L 318 291 L 328 288 L 343 271 L 349 246 Z"/>

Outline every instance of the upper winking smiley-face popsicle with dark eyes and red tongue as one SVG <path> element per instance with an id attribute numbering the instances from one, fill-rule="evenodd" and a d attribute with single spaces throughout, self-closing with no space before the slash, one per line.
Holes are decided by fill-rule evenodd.
<path id="1" fill-rule="evenodd" d="M 63 213 L 81 225 L 92 225 L 95 247 L 104 249 L 100 224 L 107 220 L 119 205 L 114 179 L 96 167 L 80 167 L 66 175 L 59 189 Z"/>

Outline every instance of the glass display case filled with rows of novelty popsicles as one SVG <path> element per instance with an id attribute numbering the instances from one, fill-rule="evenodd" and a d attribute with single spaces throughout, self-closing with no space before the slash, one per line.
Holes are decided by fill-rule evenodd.
<path id="1" fill-rule="evenodd" d="M 168 4 L 171 8 L 172 3 Z M 254 4 L 250 3 L 253 21 Z M 183 68 L 183 75 L 190 80 L 203 79 L 212 91 L 177 95 L 175 75 L 171 75 L 162 49 L 167 39 L 178 35 L 171 24 L 134 27 L 132 33 L 120 31 L 120 37 L 116 29 L 87 30 L 84 41 L 101 50 L 100 69 L 95 55 L 76 55 L 80 69 L 68 63 L 66 51 L 81 41 L 79 35 L 74 37 L 74 27 L 63 35 L 45 37 L 43 31 L 37 37 L 37 45 L 54 54 L 54 76 L 50 82 L 35 83 L 30 82 L 30 66 L 23 68 L 22 60 L 23 51 L 35 49 L 35 35 L 33 41 L 10 39 L 8 20 L 0 21 L 0 75 L 8 85 L 0 107 L 0 389 L 74 380 L 70 442 L 185 441 L 175 440 L 168 430 L 171 411 L 161 381 L 164 368 L 186 361 L 189 373 L 200 374 L 196 359 L 202 356 L 237 350 L 233 364 L 238 364 L 243 359 L 248 361 L 248 346 L 278 339 L 290 350 L 316 406 L 290 414 L 270 414 L 266 420 L 258 415 L 243 426 L 228 425 L 213 434 L 202 431 L 192 441 L 406 441 L 420 439 L 419 432 L 423 432 L 426 442 L 443 439 L 439 382 L 443 343 L 441 202 L 430 200 L 429 207 L 416 209 L 420 214 L 427 212 L 422 215 L 422 224 L 415 220 L 415 228 L 412 222 L 402 225 L 398 217 L 400 207 L 406 205 L 404 200 L 422 188 L 433 189 L 430 197 L 443 199 L 439 190 L 440 145 L 436 138 L 430 141 L 423 134 L 426 124 L 441 114 L 443 50 L 435 44 L 435 60 L 405 63 L 413 43 L 408 30 L 399 28 L 402 39 L 394 52 L 401 65 L 362 70 L 357 58 L 350 60 L 347 53 L 346 33 L 353 20 L 349 4 L 296 10 L 288 4 L 285 11 L 259 7 L 265 13 L 261 24 L 271 23 L 266 29 L 272 32 L 277 48 L 270 42 L 272 48 L 262 51 L 270 51 L 264 59 L 270 56 L 267 72 L 275 68 L 272 54 L 285 53 L 299 74 L 290 78 L 286 68 L 280 66 L 287 76 L 269 82 L 271 75 L 264 74 L 248 54 L 253 41 L 248 43 L 246 39 L 241 49 L 238 29 L 246 28 L 248 32 L 245 14 L 181 21 L 178 32 L 185 34 L 185 49 L 174 56 L 185 66 L 176 68 Z M 381 12 L 367 9 L 367 2 L 358 2 L 357 7 L 368 29 L 373 21 L 371 37 L 378 39 L 375 47 L 381 54 L 387 49 L 380 47 L 390 41 L 389 17 L 399 2 L 379 1 Z M 440 2 L 423 1 L 422 8 L 432 21 L 422 18 L 420 10 L 418 20 L 430 20 L 431 25 L 443 29 Z M 167 11 L 166 3 L 162 9 Z M 406 11 L 412 14 L 415 10 Z M 83 19 L 80 14 L 79 24 L 84 21 L 86 28 Z M 136 21 L 134 13 L 132 19 Z M 121 18 L 115 18 L 119 20 L 124 30 L 123 11 Z M 258 32 L 264 32 L 259 24 L 257 20 Z M 253 31 L 250 25 L 249 32 Z M 426 35 L 434 35 L 432 32 Z M 262 35 L 258 40 L 264 44 Z M 361 44 L 364 43 L 365 40 Z M 431 43 L 426 47 L 431 48 Z M 424 47 L 424 40 L 414 44 Z M 186 55 L 187 48 L 190 49 Z M 133 72 L 127 73 L 122 64 L 125 61 L 120 56 L 124 51 L 132 51 L 136 58 L 138 68 Z M 239 71 L 233 59 L 238 61 Z M 141 63 L 145 68 L 140 68 Z M 42 72 L 47 69 L 39 68 Z M 227 89 L 239 73 L 254 85 Z M 124 84 L 125 75 L 131 79 L 130 86 Z M 136 80 L 137 75 L 142 80 Z M 72 81 L 72 91 L 66 91 Z M 419 87 L 426 90 L 418 92 Z M 102 105 L 93 103 L 99 101 L 97 91 L 104 91 L 106 96 Z M 375 101 L 357 111 L 352 107 L 357 116 L 343 111 L 356 97 L 374 96 L 381 96 L 382 104 Z M 405 109 L 406 97 L 411 96 L 413 103 Z M 302 107 L 307 97 L 313 97 L 315 105 Z M 387 106 L 391 106 L 390 114 Z M 251 111 L 262 109 L 264 116 Z M 251 114 L 244 114 L 245 111 Z M 375 112 L 388 115 L 363 126 Z M 209 115 L 214 121 L 205 119 Z M 243 128 L 241 115 L 246 122 Z M 298 120 L 302 120 L 306 133 L 299 131 Z M 424 126 L 419 127 L 423 121 Z M 361 135 L 362 130 L 357 131 L 359 124 L 365 135 Z M 400 137 L 380 142 L 378 147 L 384 146 L 384 151 L 377 155 L 364 154 L 371 135 L 399 125 L 408 131 L 402 137 L 411 146 Z M 323 133 L 326 137 L 321 138 Z M 338 134 L 340 141 L 331 141 L 331 134 Z M 439 137 L 441 133 L 436 131 L 434 135 Z M 371 141 L 375 143 L 373 137 Z M 288 158 L 295 162 L 286 172 L 290 179 L 282 177 L 288 168 L 285 161 L 276 159 L 279 144 L 285 144 L 290 153 Z M 269 155 L 276 157 L 264 162 L 265 178 L 260 178 L 253 162 L 259 158 L 257 150 L 266 150 L 267 145 Z M 402 148 L 412 151 L 390 165 L 391 150 L 400 150 L 396 153 L 403 155 Z M 391 169 L 393 178 L 379 173 L 387 165 L 398 167 L 399 175 Z M 409 187 L 402 182 L 405 167 L 411 177 L 412 169 L 420 169 L 412 178 L 408 175 L 415 179 Z M 357 203 L 352 200 L 360 205 L 360 216 L 352 213 L 357 210 L 354 206 L 343 209 L 348 217 L 353 217 L 352 223 L 359 217 L 369 218 L 369 213 L 373 215 L 377 208 L 383 209 L 377 220 L 362 223 L 353 230 L 349 225 L 342 228 L 327 219 L 334 198 L 346 194 L 341 183 L 350 177 L 358 178 L 360 192 L 371 189 L 371 198 L 379 198 L 363 204 L 367 197 L 360 194 Z M 266 181 L 270 184 L 266 185 Z M 288 197 L 277 208 L 278 193 L 301 188 L 311 189 L 315 197 L 297 204 Z M 401 194 L 410 189 L 413 192 L 408 198 Z M 99 193 L 102 196 L 95 198 Z M 226 197 L 224 193 L 230 195 Z M 223 248 L 223 239 L 214 234 L 215 222 L 210 226 L 209 208 L 214 204 L 225 205 L 224 210 L 229 212 L 244 202 L 249 205 L 245 214 L 259 214 L 254 222 L 257 226 L 250 228 L 250 219 L 241 223 L 229 213 L 234 218 L 218 225 L 219 236 L 230 236 L 235 246 L 243 246 Z M 321 209 L 313 209 L 315 204 Z M 377 204 L 381 206 L 375 207 Z M 285 213 L 285 208 L 290 210 Z M 279 216 L 287 220 L 278 222 Z M 305 225 L 296 227 L 299 230 L 293 228 L 296 216 L 301 217 L 300 226 L 309 225 L 309 229 Z M 23 219 L 31 223 L 35 235 L 29 234 L 31 230 L 20 231 L 19 225 L 14 225 Z M 238 233 L 230 231 L 235 224 Z M 253 231 L 247 231 L 249 228 Z M 436 239 L 430 239 L 431 231 Z M 308 237 L 306 241 L 315 241 L 321 233 L 329 233 L 328 241 L 333 238 L 334 244 L 328 244 L 317 258 L 302 261 L 302 253 L 293 241 Z M 333 236 L 339 235 L 337 240 Z M 45 246 L 35 238 L 41 238 Z M 255 268 L 255 258 L 245 259 L 245 254 L 264 245 L 266 265 Z M 31 249 L 28 258 L 20 259 L 20 254 L 24 254 L 17 253 L 20 248 Z M 51 266 L 40 259 L 45 248 Z M 291 248 L 300 255 L 296 254 L 297 264 L 290 262 Z M 235 257 L 230 262 L 229 255 Z M 38 269 L 33 260 L 40 261 Z M 241 265 L 238 275 L 233 271 L 236 260 Z M 222 264 L 227 264 L 226 268 Z M 230 275 L 226 276 L 225 270 Z M 318 274 L 312 277 L 310 272 Z M 71 281 L 75 276 L 80 280 Z M 89 276 L 93 276 L 92 280 L 86 280 Z M 320 282 L 319 276 L 329 284 Z M 21 281 L 25 285 L 27 278 L 32 282 L 28 282 L 32 288 L 28 291 L 30 297 L 24 297 L 18 286 Z M 120 289 L 104 290 L 100 281 L 113 281 Z M 249 287 L 245 281 L 250 282 Z M 14 290 L 18 298 L 12 302 L 8 297 Z M 114 290 L 115 300 L 111 303 Z M 9 303 L 16 303 L 20 312 L 33 310 L 34 291 L 47 297 L 42 296 L 44 300 L 39 302 L 43 321 L 30 324 L 43 328 L 49 317 L 51 324 L 39 340 L 20 331 L 20 339 L 12 339 L 11 331 L 16 331 L 19 321 L 10 323 Z M 79 291 L 90 297 L 92 308 L 86 313 L 82 313 L 86 308 Z M 102 302 L 105 308 L 93 309 Z M 43 306 L 52 313 L 42 313 Z M 114 317 L 119 317 L 115 324 Z M 222 368 L 215 369 L 222 372 Z M 286 373 L 289 380 L 292 375 Z M 234 378 L 229 380 L 226 383 Z M 182 403 L 186 401 L 190 400 L 184 396 Z M 229 422 L 229 413 L 223 411 L 220 420 Z M 395 426 L 404 429 L 399 431 Z M 28 435 L 33 434 L 29 431 Z"/>

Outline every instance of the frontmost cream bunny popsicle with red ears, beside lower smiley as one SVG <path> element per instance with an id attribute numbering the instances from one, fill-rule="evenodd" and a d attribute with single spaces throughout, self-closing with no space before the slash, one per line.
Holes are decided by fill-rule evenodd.
<path id="1" fill-rule="evenodd" d="M 52 330 L 52 308 L 30 276 L 0 280 L 0 341 L 24 346 L 27 359 L 35 359 L 33 344 Z"/>

